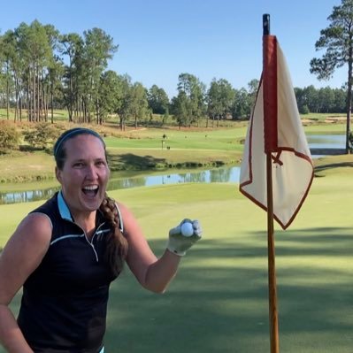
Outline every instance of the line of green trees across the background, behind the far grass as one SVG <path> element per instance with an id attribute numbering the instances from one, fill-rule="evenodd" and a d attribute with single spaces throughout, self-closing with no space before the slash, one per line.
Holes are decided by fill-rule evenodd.
<path id="1" fill-rule="evenodd" d="M 116 116 L 125 129 L 136 127 L 152 113 L 173 115 L 181 127 L 206 126 L 220 119 L 248 119 L 257 95 L 258 81 L 235 89 L 226 79 L 213 79 L 207 88 L 195 75 L 180 73 L 177 96 L 169 99 L 164 88 L 143 87 L 128 74 L 108 70 L 119 49 L 100 28 L 60 34 L 38 20 L 0 35 L 0 106 L 14 110 L 14 120 L 54 120 L 54 109 L 66 109 L 68 120 L 102 124 Z M 301 113 L 345 111 L 345 90 L 295 88 Z"/>

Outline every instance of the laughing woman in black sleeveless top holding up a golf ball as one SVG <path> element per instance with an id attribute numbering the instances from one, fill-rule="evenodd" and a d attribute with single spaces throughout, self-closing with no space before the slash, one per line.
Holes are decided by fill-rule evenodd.
<path id="1" fill-rule="evenodd" d="M 60 192 L 21 221 L 0 256 L 0 341 L 12 353 L 103 352 L 109 286 L 123 264 L 144 288 L 163 293 L 201 228 L 194 221 L 194 233 L 183 236 L 184 219 L 157 259 L 131 211 L 106 196 L 99 134 L 65 131 L 54 157 Z M 21 287 L 16 320 L 8 305 Z"/>

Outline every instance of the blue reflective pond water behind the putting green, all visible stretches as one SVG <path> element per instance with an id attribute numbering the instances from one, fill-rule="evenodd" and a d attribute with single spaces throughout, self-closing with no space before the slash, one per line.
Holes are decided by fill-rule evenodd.
<path id="1" fill-rule="evenodd" d="M 308 143 L 311 148 L 344 148 L 345 135 L 318 134 L 308 135 Z M 319 157 L 319 156 L 312 156 Z M 192 169 L 179 172 L 176 170 L 147 174 L 146 172 L 111 173 L 108 190 L 121 188 L 150 187 L 153 185 L 178 184 L 184 182 L 238 182 L 240 175 L 239 166 L 224 166 L 209 170 Z M 58 191 L 59 187 L 43 188 L 26 191 L 14 191 L 0 193 L 1 203 L 26 203 L 50 198 Z"/>

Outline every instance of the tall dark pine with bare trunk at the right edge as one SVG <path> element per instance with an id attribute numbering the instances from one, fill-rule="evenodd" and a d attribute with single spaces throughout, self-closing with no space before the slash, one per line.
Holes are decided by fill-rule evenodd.
<path id="1" fill-rule="evenodd" d="M 311 73 L 316 73 L 319 80 L 328 80 L 336 68 L 348 65 L 346 151 L 349 153 L 353 83 L 353 0 L 341 0 L 341 5 L 334 6 L 333 12 L 327 19 L 330 25 L 321 30 L 320 37 L 315 43 L 317 50 L 326 49 L 326 52 L 322 58 L 311 59 Z"/>

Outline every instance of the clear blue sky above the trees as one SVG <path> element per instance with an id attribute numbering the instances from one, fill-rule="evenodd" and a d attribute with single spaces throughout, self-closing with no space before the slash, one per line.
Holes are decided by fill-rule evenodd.
<path id="1" fill-rule="evenodd" d="M 38 19 L 62 34 L 102 28 L 119 44 L 109 68 L 132 81 L 176 94 L 180 73 L 209 87 L 213 78 L 248 88 L 262 69 L 262 16 L 271 16 L 295 87 L 341 88 L 344 67 L 330 81 L 310 73 L 310 60 L 327 17 L 341 0 L 12 0 L 2 4 L 1 34 Z"/>

